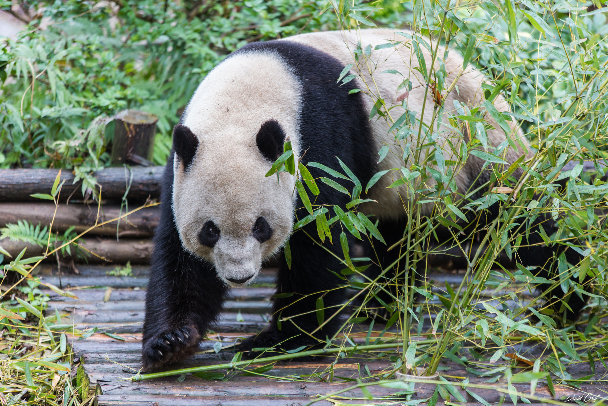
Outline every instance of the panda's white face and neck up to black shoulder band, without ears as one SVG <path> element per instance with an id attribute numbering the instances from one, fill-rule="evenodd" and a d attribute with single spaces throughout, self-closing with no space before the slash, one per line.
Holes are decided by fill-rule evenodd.
<path id="1" fill-rule="evenodd" d="M 252 282 L 288 239 L 295 178 L 265 177 L 289 137 L 298 150 L 300 85 L 275 54 L 227 58 L 173 133 L 173 215 L 182 246 L 226 284 Z"/>

